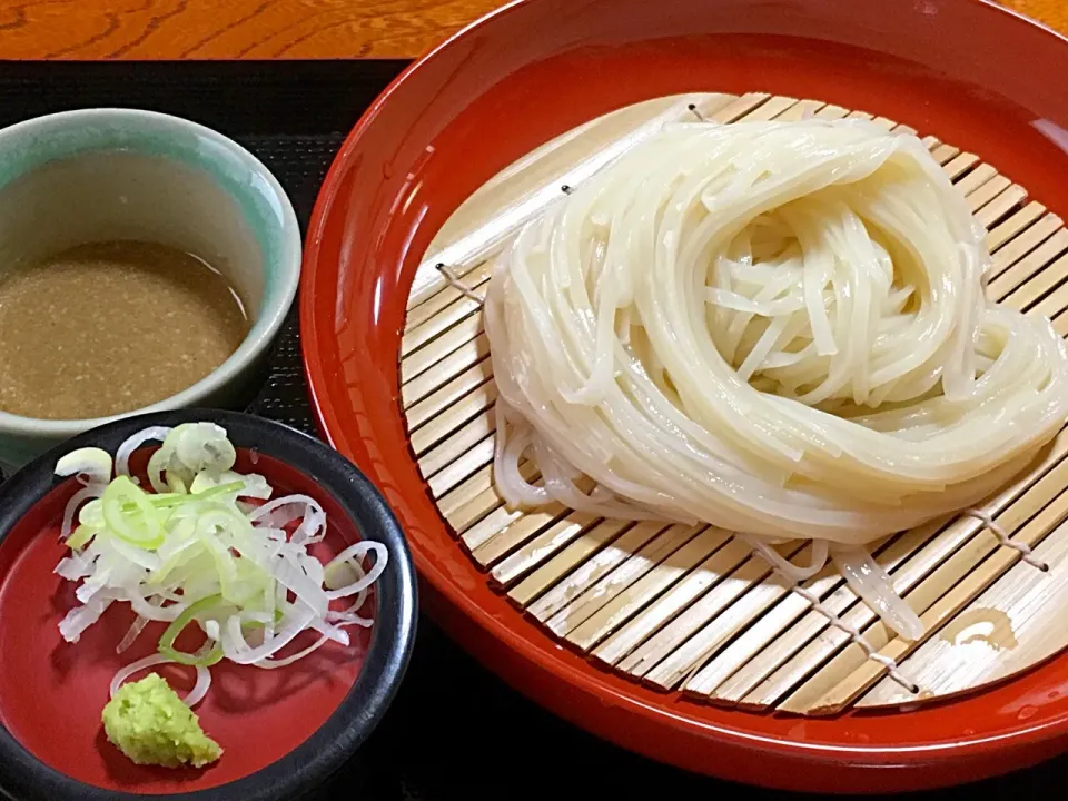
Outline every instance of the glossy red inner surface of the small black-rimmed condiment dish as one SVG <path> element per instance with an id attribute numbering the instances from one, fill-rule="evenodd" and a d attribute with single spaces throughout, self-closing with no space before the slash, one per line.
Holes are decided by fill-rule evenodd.
<path id="1" fill-rule="evenodd" d="M 135 467 L 149 453 L 139 452 Z M 320 558 L 358 540 L 355 525 L 334 498 L 304 474 L 261 455 L 253 467 L 246 453 L 240 454 L 237 469 L 266 476 L 276 494 L 305 493 L 323 504 L 330 532 L 320 544 L 323 552 L 316 554 Z M 212 668 L 211 689 L 197 708 L 204 730 L 225 749 L 222 759 L 210 768 L 139 767 L 108 742 L 100 712 L 111 678 L 123 665 L 152 653 L 165 624 L 147 626 L 121 655 L 115 647 L 134 621 L 126 605 L 113 604 L 77 643 L 60 636 L 57 626 L 75 603 L 75 585 L 52 574 L 52 568 L 66 551 L 59 543 L 63 506 L 78 486 L 73 479 L 58 486 L 0 543 L 0 722 L 34 756 L 67 775 L 145 794 L 191 792 L 240 779 L 307 740 L 359 674 L 369 629 L 354 630 L 348 647 L 329 643 L 281 670 L 227 662 Z M 310 639 L 314 634 L 303 634 L 291 647 L 308 645 Z M 177 645 L 195 650 L 197 643 L 184 635 Z M 191 689 L 196 679 L 191 668 L 152 670 L 179 694 Z M 56 735 L 57 729 L 63 736 Z"/>

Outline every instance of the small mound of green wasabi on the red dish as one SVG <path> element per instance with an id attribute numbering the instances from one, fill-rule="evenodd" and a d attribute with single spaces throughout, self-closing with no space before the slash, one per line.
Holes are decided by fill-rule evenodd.
<path id="1" fill-rule="evenodd" d="M 222 749 L 158 673 L 123 684 L 103 708 L 108 740 L 137 764 L 202 768 Z"/>

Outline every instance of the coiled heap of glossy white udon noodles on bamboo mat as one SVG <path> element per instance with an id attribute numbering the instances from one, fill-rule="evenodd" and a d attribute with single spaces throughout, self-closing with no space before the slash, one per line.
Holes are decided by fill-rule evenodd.
<path id="1" fill-rule="evenodd" d="M 733 530 L 793 581 L 830 554 L 914 639 L 864 544 L 987 497 L 1068 417 L 1062 340 L 985 299 L 989 264 L 913 136 L 665 126 L 495 264 L 496 486 Z M 797 540 L 808 566 L 771 547 Z"/>

